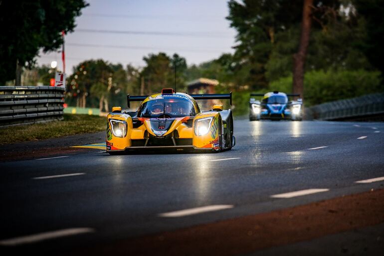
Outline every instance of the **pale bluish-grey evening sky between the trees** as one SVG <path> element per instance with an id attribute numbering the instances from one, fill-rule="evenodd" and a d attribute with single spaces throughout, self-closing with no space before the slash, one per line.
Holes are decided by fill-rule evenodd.
<path id="1" fill-rule="evenodd" d="M 229 27 L 227 0 L 88 0 L 65 36 L 66 73 L 88 59 L 144 66 L 149 53 L 175 52 L 187 64 L 199 64 L 233 53 L 236 31 Z M 39 65 L 61 53 L 40 53 Z"/>

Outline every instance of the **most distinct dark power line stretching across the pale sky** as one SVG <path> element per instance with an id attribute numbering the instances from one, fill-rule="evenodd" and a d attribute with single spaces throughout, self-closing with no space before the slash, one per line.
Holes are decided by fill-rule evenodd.
<path id="1" fill-rule="evenodd" d="M 87 33 L 114 33 L 114 34 L 139 34 L 139 35 L 170 35 L 170 36 L 194 36 L 194 37 L 217 37 L 222 38 L 230 36 L 229 34 L 219 34 L 217 31 L 204 32 L 158 32 L 158 31 L 132 31 L 132 30 L 103 30 L 103 29 L 88 29 L 78 28 L 76 32 Z"/>

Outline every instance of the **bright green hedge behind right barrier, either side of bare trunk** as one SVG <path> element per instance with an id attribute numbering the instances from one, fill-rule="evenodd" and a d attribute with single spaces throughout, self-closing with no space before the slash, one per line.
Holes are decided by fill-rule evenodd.
<path id="1" fill-rule="evenodd" d="M 310 71 L 304 76 L 304 103 L 306 106 L 327 101 L 347 99 L 369 93 L 383 92 L 379 71 L 329 70 Z M 292 76 L 271 82 L 270 91 L 292 91 Z"/>

